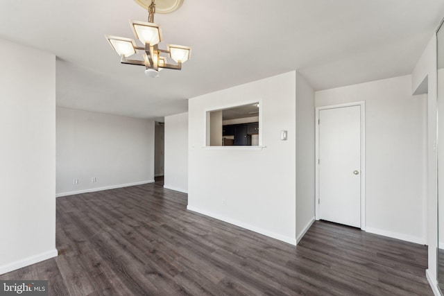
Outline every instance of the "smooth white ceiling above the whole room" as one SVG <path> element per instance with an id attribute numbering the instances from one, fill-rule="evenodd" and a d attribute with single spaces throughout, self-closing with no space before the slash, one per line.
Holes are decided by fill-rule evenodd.
<path id="1" fill-rule="evenodd" d="M 159 118 L 186 112 L 187 98 L 295 69 L 316 90 L 409 74 L 444 1 L 185 0 L 155 22 L 192 58 L 160 78 L 120 64 L 104 37 L 133 38 L 128 20 L 146 17 L 133 0 L 1 0 L 0 38 L 57 55 L 59 106 Z"/>

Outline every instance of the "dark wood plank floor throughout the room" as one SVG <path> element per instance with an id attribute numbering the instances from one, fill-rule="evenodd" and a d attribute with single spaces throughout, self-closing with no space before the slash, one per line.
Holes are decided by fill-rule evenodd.
<path id="1" fill-rule="evenodd" d="M 50 295 L 433 295 L 425 246 L 316 222 L 295 247 L 186 205 L 161 183 L 58 198 L 59 256 L 0 279 L 47 279 Z"/>

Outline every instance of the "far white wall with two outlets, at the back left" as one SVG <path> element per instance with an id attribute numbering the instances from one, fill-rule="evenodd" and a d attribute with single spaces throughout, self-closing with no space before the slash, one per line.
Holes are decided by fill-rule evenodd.
<path id="1" fill-rule="evenodd" d="M 154 125 L 58 107 L 57 195 L 154 182 Z"/>

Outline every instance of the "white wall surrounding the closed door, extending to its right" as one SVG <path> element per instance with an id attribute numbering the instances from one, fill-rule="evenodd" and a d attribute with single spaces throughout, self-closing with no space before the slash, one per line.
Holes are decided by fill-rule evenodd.
<path id="1" fill-rule="evenodd" d="M 424 96 L 411 76 L 316 92 L 316 107 L 366 102 L 366 231 L 426 243 Z"/>

